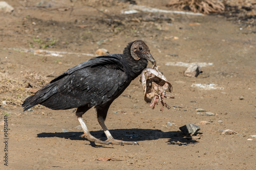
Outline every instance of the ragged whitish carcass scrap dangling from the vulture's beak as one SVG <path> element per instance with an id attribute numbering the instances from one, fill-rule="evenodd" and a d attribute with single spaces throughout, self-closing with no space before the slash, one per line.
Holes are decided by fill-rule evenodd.
<path id="1" fill-rule="evenodd" d="M 163 111 L 163 106 L 169 109 L 170 107 L 165 103 L 164 98 L 174 98 L 172 95 L 166 94 L 166 92 L 172 92 L 173 86 L 168 82 L 168 80 L 159 72 L 158 68 L 145 68 L 139 79 L 143 87 L 144 100 L 146 103 L 150 103 L 152 109 L 155 108 L 158 100 L 161 103 L 161 111 Z"/>

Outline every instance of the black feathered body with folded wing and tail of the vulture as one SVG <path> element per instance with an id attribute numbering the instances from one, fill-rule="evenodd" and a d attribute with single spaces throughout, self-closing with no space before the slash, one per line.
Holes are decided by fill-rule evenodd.
<path id="1" fill-rule="evenodd" d="M 114 100 L 130 84 L 120 55 L 106 55 L 68 69 L 23 104 L 27 110 L 37 104 L 54 110 L 104 105 Z"/>

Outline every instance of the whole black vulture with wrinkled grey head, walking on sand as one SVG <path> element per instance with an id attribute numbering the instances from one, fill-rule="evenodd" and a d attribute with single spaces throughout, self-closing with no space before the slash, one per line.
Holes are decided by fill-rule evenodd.
<path id="1" fill-rule="evenodd" d="M 148 61 L 156 65 L 145 42 L 130 42 L 123 54 L 98 56 L 68 69 L 29 96 L 22 106 L 24 111 L 38 104 L 53 110 L 77 108 L 76 116 L 84 131 L 83 136 L 89 141 L 101 144 L 138 144 L 114 139 L 104 120 L 112 102 L 141 74 Z M 105 141 L 92 136 L 83 122 L 82 115 L 93 106 L 97 111 L 98 122 L 108 138 Z"/>

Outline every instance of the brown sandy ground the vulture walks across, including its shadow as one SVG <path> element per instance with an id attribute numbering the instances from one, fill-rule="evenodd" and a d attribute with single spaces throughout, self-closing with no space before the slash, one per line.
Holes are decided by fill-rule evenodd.
<path id="1" fill-rule="evenodd" d="M 1 103 L 7 102 L 0 107 L 1 169 L 256 168 L 256 138 L 250 136 L 256 135 L 255 27 L 221 15 L 126 15 L 121 11 L 129 10 L 129 3 L 112 1 L 104 5 L 96 1 L 97 9 L 83 1 L 39 2 L 11 1 L 15 12 L 0 15 L 1 79 L 5 76 L 18 85 L 6 91 L 1 86 Z M 137 5 L 168 10 L 167 2 L 139 1 Z M 106 126 L 115 138 L 139 145 L 95 145 L 80 138 L 82 130 L 76 128 L 79 123 L 72 109 L 22 111 L 20 102 L 30 91 L 92 58 L 98 48 L 122 53 L 136 39 L 150 47 L 176 96 L 166 100 L 172 106 L 169 110 L 161 112 L 159 105 L 152 110 L 143 100 L 137 78 L 112 104 Z M 39 49 L 68 54 L 36 52 Z M 197 78 L 185 77 L 187 63 L 205 65 L 203 72 Z M 214 115 L 197 113 L 197 108 Z M 95 110 L 83 117 L 91 133 L 105 139 Z M 8 152 L 4 151 L 4 120 L 8 120 Z M 201 121 L 210 124 L 199 125 L 200 139 L 186 139 L 179 130 Z M 226 129 L 238 134 L 221 134 Z M 8 166 L 3 161 L 6 153 Z M 97 160 L 101 157 L 113 160 Z"/>

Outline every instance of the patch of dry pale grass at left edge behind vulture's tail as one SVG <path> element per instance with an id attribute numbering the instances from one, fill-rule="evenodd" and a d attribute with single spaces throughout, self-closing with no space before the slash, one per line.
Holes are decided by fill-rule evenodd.
<path id="1" fill-rule="evenodd" d="M 21 80 L 12 78 L 7 71 L 0 71 L 0 101 L 11 105 L 22 105 L 27 96 L 32 95 L 48 83 L 47 78 L 35 72 L 25 72 Z"/>

